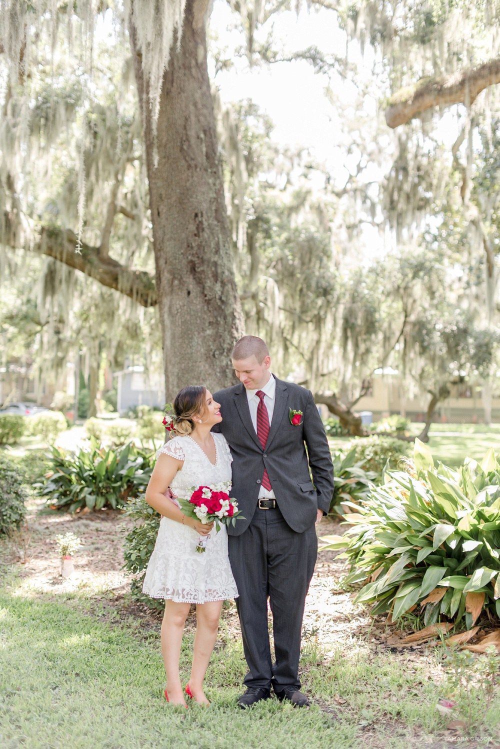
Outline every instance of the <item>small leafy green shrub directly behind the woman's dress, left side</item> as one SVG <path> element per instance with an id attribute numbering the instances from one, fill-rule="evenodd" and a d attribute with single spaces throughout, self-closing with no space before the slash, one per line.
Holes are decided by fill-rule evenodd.
<path id="1" fill-rule="evenodd" d="M 142 592 L 144 574 L 156 542 L 161 515 L 147 504 L 143 496 L 129 500 L 125 513 L 135 521 L 135 525 L 126 533 L 124 539 L 124 569 L 132 576 L 132 598 L 150 608 L 162 611 L 165 608 L 162 598 L 150 598 Z"/>

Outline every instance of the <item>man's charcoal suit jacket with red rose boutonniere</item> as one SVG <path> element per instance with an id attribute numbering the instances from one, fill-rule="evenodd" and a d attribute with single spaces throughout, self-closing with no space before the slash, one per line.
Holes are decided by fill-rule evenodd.
<path id="1" fill-rule="evenodd" d="M 276 380 L 275 405 L 265 448 L 251 423 L 243 383 L 213 393 L 221 404 L 222 422 L 213 431 L 224 434 L 233 455 L 233 488 L 246 520 L 228 526 L 230 536 L 249 527 L 266 467 L 281 514 L 303 533 L 316 521 L 317 509 L 328 512 L 333 495 L 333 466 L 325 428 L 310 390 Z M 299 425 L 290 423 L 289 409 L 302 411 Z M 307 452 L 305 447 L 307 446 Z M 311 473 L 313 483 L 311 482 Z"/>

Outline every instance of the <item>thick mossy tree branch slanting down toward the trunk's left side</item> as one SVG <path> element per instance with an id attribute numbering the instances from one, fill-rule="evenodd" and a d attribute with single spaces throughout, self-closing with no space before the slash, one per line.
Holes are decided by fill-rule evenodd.
<path id="1" fill-rule="evenodd" d="M 49 258 L 55 258 L 86 276 L 99 281 L 103 286 L 114 288 L 130 297 L 143 307 L 152 307 L 157 303 L 156 288 L 153 276 L 145 270 L 132 270 L 113 260 L 100 255 L 99 247 L 82 243 L 81 252 L 76 252 L 76 234 L 70 229 L 58 226 L 42 226 L 37 231 L 33 242 L 25 239 L 20 219 L 15 220 L 7 211 L 4 212 L 1 228 L 1 243 L 13 249 L 28 249 L 40 252 Z"/>

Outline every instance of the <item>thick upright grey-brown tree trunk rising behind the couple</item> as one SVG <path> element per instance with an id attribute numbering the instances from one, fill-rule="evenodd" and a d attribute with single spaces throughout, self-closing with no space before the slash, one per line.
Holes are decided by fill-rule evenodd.
<path id="1" fill-rule="evenodd" d="M 156 143 L 133 13 L 129 28 L 143 117 L 167 400 L 189 384 L 211 390 L 234 384 L 231 349 L 243 335 L 201 4 L 186 2 L 180 49 L 174 41 L 163 77 Z"/>

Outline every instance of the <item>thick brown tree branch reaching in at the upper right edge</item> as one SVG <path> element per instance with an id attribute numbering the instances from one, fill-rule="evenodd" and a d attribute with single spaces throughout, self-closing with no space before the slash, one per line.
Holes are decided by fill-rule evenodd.
<path id="1" fill-rule="evenodd" d="M 403 88 L 391 97 L 385 109 L 385 121 L 394 128 L 419 117 L 434 106 L 458 103 L 470 106 L 484 88 L 496 83 L 500 83 L 500 58 L 469 67 L 453 76 L 422 79 L 415 86 Z"/>

